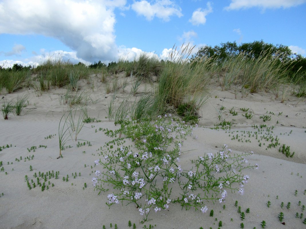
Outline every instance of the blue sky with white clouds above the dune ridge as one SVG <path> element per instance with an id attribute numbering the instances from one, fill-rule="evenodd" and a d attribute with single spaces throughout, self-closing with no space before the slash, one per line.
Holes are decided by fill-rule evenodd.
<path id="1" fill-rule="evenodd" d="M 174 46 L 260 41 L 306 56 L 306 0 L 0 0 L 0 66 L 166 60 Z M 183 46 L 184 47 L 184 46 Z"/>

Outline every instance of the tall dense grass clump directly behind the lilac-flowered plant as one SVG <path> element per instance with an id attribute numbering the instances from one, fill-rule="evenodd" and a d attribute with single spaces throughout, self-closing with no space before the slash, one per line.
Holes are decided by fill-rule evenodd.
<path id="1" fill-rule="evenodd" d="M 210 76 L 203 60 L 188 62 L 192 49 L 193 47 L 186 45 L 184 48 L 181 47 L 181 53 L 177 53 L 176 49 L 170 53 L 170 61 L 165 64 L 156 88 L 156 102 L 160 112 L 164 112 L 167 106 L 177 109 L 186 102 L 190 104 L 190 101 L 196 101 L 196 97 L 188 98 L 198 93 L 201 93 L 200 98 L 203 102 L 202 95 L 206 92 Z M 185 101 L 186 99 L 189 101 Z"/>

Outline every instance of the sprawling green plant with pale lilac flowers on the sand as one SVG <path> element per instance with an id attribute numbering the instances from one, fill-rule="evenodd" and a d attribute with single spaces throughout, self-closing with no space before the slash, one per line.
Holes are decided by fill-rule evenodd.
<path id="1" fill-rule="evenodd" d="M 101 172 L 96 171 L 97 177 L 92 178 L 95 190 L 107 191 L 103 184 L 111 184 L 115 191 L 108 194 L 106 204 L 134 203 L 143 216 L 142 222 L 152 210 L 169 209 L 175 203 L 186 210 L 194 207 L 206 213 L 205 200 L 222 203 L 229 190 L 244 194 L 243 185 L 249 176 L 241 171 L 258 167 L 248 165 L 244 158 L 253 152 L 232 155 L 224 145 L 216 154 L 203 154 L 191 160 L 192 169 L 182 168 L 179 156 L 183 141 L 179 139 L 192 135 L 197 124 L 188 126 L 169 116 L 159 116 L 155 122 L 125 122 L 120 132 L 134 141 L 136 150 L 126 146 L 104 150 L 104 158 L 95 161 L 95 165 L 103 166 Z"/>

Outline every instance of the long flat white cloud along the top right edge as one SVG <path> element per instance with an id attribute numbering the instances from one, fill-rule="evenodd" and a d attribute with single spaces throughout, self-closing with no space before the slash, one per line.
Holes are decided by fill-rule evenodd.
<path id="1" fill-rule="evenodd" d="M 232 0 L 226 10 L 246 9 L 251 7 L 266 8 L 289 8 L 305 3 L 306 0 Z"/>

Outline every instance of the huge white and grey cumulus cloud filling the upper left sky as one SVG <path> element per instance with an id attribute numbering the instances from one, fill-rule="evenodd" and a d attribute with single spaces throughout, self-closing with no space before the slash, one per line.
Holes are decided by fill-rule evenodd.
<path id="1" fill-rule="evenodd" d="M 83 60 L 115 60 L 114 9 L 125 4 L 126 0 L 3 0 L 0 33 L 41 34 L 60 40 Z"/>

